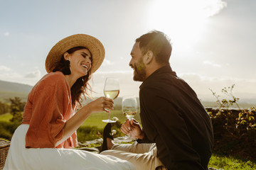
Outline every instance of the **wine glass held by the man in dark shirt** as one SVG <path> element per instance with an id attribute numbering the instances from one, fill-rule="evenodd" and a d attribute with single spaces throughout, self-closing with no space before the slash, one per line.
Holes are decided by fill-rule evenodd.
<path id="1" fill-rule="evenodd" d="M 124 113 L 125 117 L 127 117 L 129 120 L 132 120 L 134 115 L 136 115 L 137 110 L 138 103 L 136 96 L 124 96 L 122 98 L 122 113 Z M 129 137 L 132 137 L 132 135 Z"/>

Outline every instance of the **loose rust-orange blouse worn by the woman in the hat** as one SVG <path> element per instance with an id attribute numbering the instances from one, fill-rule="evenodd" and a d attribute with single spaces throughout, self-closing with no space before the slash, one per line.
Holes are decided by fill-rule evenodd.
<path id="1" fill-rule="evenodd" d="M 75 114 L 68 81 L 62 72 L 46 74 L 33 86 L 24 107 L 22 124 L 28 124 L 26 147 L 54 148 L 63 137 L 65 122 Z M 76 132 L 58 148 L 78 145 Z"/>

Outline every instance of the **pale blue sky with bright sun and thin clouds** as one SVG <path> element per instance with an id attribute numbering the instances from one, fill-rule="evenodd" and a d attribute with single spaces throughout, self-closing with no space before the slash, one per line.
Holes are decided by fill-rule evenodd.
<path id="1" fill-rule="evenodd" d="M 256 98 L 255 8 L 255 0 L 0 0 L 0 79 L 33 86 L 46 74 L 50 48 L 85 33 L 106 50 L 93 96 L 103 95 L 106 77 L 120 79 L 120 96 L 138 96 L 129 53 L 136 38 L 156 29 L 171 38 L 171 67 L 199 98 L 214 101 L 209 88 L 221 94 L 235 84 L 235 96 L 246 101 Z"/>

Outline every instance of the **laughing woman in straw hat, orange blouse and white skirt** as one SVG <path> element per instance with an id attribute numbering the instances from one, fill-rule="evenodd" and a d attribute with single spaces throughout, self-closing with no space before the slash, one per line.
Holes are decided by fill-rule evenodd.
<path id="1" fill-rule="evenodd" d="M 78 144 L 75 131 L 90 114 L 113 109 L 112 99 L 105 97 L 80 104 L 87 81 L 104 57 L 102 43 L 85 34 L 64 38 L 50 50 L 48 74 L 28 95 L 4 169 L 134 169 L 116 157 L 68 149 Z"/>

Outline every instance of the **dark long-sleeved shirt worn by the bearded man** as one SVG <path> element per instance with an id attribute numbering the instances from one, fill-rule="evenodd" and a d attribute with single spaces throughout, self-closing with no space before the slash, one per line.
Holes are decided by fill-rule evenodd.
<path id="1" fill-rule="evenodd" d="M 140 117 L 146 137 L 154 142 L 168 169 L 208 169 L 213 146 L 210 116 L 196 93 L 169 65 L 140 86 Z"/>

